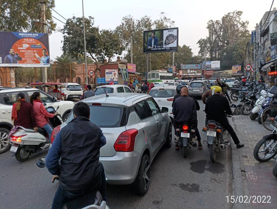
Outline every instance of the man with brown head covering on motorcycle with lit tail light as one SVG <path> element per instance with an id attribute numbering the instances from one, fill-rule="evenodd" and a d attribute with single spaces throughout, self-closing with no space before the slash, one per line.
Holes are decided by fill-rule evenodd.
<path id="1" fill-rule="evenodd" d="M 196 104 L 194 99 L 188 96 L 187 87 L 183 87 L 181 89 L 181 96 L 174 101 L 172 113 L 174 115 L 174 119 L 173 119 L 174 130 L 178 129 L 179 126 L 182 125 L 184 122 L 189 123 L 192 129 L 194 130 L 197 129 Z M 175 135 L 176 135 L 175 138 L 179 139 L 179 132 L 176 132 Z M 198 145 L 199 145 L 199 149 L 201 149 L 200 148 L 200 146 L 202 147 L 201 142 Z M 176 143 L 175 148 L 179 149 L 178 143 Z"/>

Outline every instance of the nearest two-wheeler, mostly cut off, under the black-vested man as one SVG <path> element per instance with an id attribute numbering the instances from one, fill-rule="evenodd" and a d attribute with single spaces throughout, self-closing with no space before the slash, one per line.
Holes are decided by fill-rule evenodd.
<path id="1" fill-rule="evenodd" d="M 38 159 L 37 166 L 40 168 L 44 168 L 46 166 L 45 158 Z M 59 180 L 58 178 L 56 179 Z M 52 181 L 52 183 L 54 183 L 54 181 Z M 103 200 L 103 197 L 99 191 L 93 191 L 76 199 L 73 199 L 70 202 L 66 202 L 65 204 L 63 204 L 63 208 L 109 209 L 106 201 Z"/>

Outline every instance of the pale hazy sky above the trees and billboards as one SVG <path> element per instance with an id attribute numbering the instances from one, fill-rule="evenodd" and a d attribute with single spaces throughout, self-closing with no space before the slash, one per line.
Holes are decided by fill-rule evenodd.
<path id="1" fill-rule="evenodd" d="M 160 12 L 164 12 L 168 18 L 175 21 L 175 27 L 179 27 L 179 45 L 190 46 L 192 52 L 197 55 L 199 48 L 197 41 L 208 35 L 207 22 L 219 20 L 224 14 L 234 10 L 243 11 L 242 21 L 249 21 L 248 30 L 254 30 L 263 14 L 269 11 L 272 1 L 246 1 L 246 0 L 170 0 L 170 1 L 131 1 L 131 0 L 83 0 L 85 17 L 93 16 L 94 25 L 100 29 L 115 29 L 123 16 L 131 15 L 134 19 L 150 16 L 159 19 Z M 272 9 L 277 7 L 277 1 L 273 3 Z M 72 16 L 81 17 L 82 0 L 56 0 L 55 8 L 65 18 Z M 65 22 L 57 13 L 52 15 Z M 54 19 L 57 28 L 63 28 L 63 23 Z M 80 27 L 83 27 L 80 25 Z M 50 58 L 54 60 L 62 54 L 62 34 L 53 32 L 49 36 Z"/>

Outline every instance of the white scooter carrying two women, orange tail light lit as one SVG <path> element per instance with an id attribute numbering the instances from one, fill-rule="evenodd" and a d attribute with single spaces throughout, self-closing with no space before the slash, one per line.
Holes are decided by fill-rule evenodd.
<path id="1" fill-rule="evenodd" d="M 57 110 L 53 107 L 46 108 L 46 111 L 51 114 L 54 114 Z M 49 118 L 49 121 L 51 127 L 53 128 L 63 123 L 60 114 L 57 114 L 53 118 Z M 41 127 L 38 127 L 38 131 L 35 132 L 33 129 L 18 126 L 18 129 L 11 134 L 9 138 L 12 145 L 10 152 L 12 153 L 12 156 L 15 156 L 16 160 L 24 162 L 28 160 L 32 153 L 36 153 L 50 147 L 51 136 L 48 136 L 49 139 L 46 139 L 46 137 L 47 133 Z"/>

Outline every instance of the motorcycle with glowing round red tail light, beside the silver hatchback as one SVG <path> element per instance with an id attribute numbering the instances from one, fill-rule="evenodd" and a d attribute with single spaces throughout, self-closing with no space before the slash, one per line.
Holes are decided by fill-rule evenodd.
<path id="1" fill-rule="evenodd" d="M 179 140 L 175 142 L 183 149 L 183 157 L 186 158 L 188 156 L 188 148 L 191 148 L 190 145 L 194 148 L 197 147 L 197 144 L 193 141 L 195 137 L 192 138 L 195 130 L 191 129 L 188 123 L 183 123 L 176 129 L 176 132 L 179 132 Z"/>

